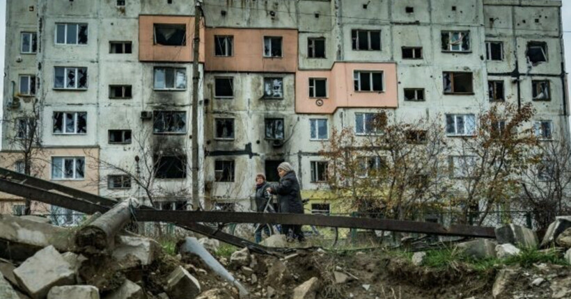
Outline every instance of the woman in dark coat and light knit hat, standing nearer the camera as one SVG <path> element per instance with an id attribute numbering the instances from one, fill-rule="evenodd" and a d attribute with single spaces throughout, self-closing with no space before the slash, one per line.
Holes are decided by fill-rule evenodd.
<path id="1" fill-rule="evenodd" d="M 267 191 L 278 195 L 279 213 L 304 213 L 299 182 L 292 165 L 283 162 L 278 166 L 279 183 L 270 184 Z M 290 238 L 304 241 L 302 225 L 282 225 L 282 233 Z M 291 232 L 290 232 L 291 231 Z"/>

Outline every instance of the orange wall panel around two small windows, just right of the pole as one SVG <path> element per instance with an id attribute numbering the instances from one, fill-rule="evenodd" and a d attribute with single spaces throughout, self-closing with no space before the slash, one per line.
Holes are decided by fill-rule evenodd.
<path id="1" fill-rule="evenodd" d="M 231 56 L 216 56 L 214 36 L 233 37 Z M 264 37 L 281 37 L 281 57 L 264 57 Z M 222 72 L 295 72 L 297 30 L 207 28 L 205 70 Z"/>

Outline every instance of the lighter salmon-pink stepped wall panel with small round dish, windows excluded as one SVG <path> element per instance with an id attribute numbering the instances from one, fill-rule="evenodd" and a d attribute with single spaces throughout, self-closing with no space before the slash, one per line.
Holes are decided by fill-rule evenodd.
<path id="1" fill-rule="evenodd" d="M 355 91 L 353 81 L 355 71 L 382 72 L 383 90 Z M 327 97 L 309 97 L 311 78 L 327 79 Z M 336 62 L 330 71 L 299 70 L 296 73 L 295 86 L 296 113 L 334 113 L 337 108 L 397 108 L 398 106 L 395 63 Z"/>

